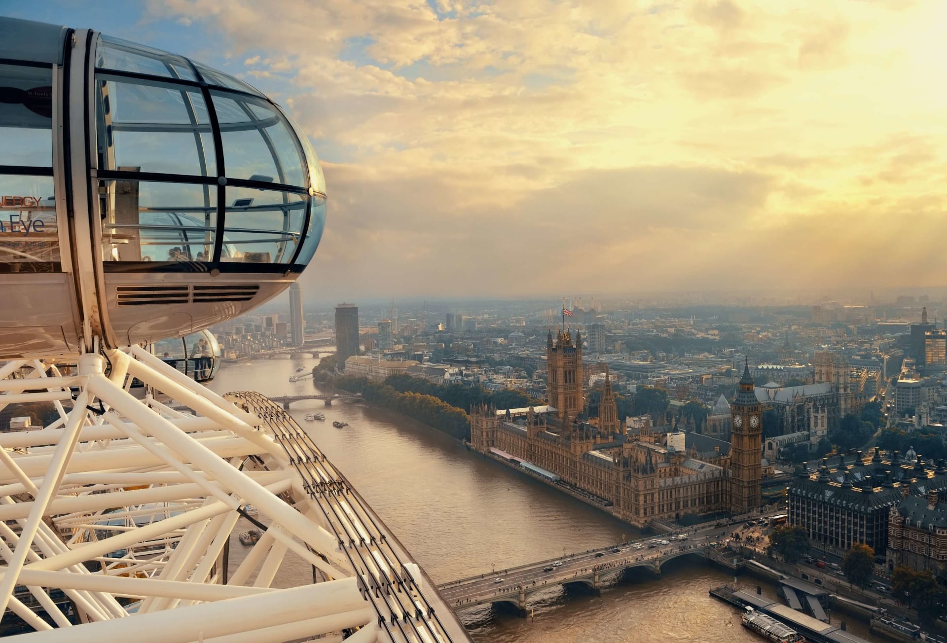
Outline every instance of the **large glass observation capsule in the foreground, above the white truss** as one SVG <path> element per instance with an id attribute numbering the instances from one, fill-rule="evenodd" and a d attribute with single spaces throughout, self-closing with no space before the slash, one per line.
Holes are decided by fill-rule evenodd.
<path id="1" fill-rule="evenodd" d="M 198 332 L 322 236 L 322 171 L 277 104 L 97 31 L 0 18 L 0 145 L 0 359 Z"/>

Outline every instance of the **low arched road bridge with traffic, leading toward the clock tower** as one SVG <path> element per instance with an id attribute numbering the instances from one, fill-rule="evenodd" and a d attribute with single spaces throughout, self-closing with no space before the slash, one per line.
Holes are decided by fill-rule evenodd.
<path id="1" fill-rule="evenodd" d="M 528 598 L 556 585 L 580 584 L 598 594 L 603 584 L 611 584 L 628 570 L 640 567 L 660 576 L 661 565 L 685 556 L 700 557 L 736 569 L 740 566 L 740 555 L 718 542 L 724 538 L 726 530 L 726 527 L 715 528 L 710 532 L 696 533 L 688 540 L 665 535 L 589 549 L 559 559 L 492 570 L 446 582 L 438 585 L 438 591 L 455 611 L 487 603 L 508 603 L 520 616 L 527 616 Z M 670 540 L 672 538 L 674 540 Z"/>

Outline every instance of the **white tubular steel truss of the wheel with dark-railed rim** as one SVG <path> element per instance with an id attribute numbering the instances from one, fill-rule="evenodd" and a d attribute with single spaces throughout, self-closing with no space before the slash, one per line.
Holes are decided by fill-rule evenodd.
<path id="1" fill-rule="evenodd" d="M 26 402 L 58 417 L 0 434 L 0 614 L 33 630 L 12 640 L 469 640 L 348 480 L 259 393 L 216 395 L 131 347 L 0 366 L 0 410 Z M 258 540 L 235 551 L 241 521 Z M 275 588 L 288 565 L 311 567 L 313 583 Z"/>

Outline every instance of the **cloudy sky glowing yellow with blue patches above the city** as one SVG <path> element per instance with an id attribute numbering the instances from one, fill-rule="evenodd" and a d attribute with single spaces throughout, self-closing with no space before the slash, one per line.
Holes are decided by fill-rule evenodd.
<path id="1" fill-rule="evenodd" d="M 942 0 L 0 7 L 289 108 L 329 185 L 313 297 L 945 281 Z"/>

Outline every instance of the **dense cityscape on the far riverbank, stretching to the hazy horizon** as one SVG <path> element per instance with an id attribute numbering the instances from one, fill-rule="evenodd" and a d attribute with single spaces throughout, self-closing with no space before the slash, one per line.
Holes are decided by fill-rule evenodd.
<path id="1" fill-rule="evenodd" d="M 676 533 L 766 508 L 777 524 L 755 550 L 835 561 L 857 598 L 941 609 L 942 300 L 558 303 L 293 304 L 289 320 L 264 313 L 218 335 L 231 359 L 331 341 L 316 381 L 390 408 L 382 386 L 446 402 L 455 416 L 405 412 L 634 527 Z"/>

